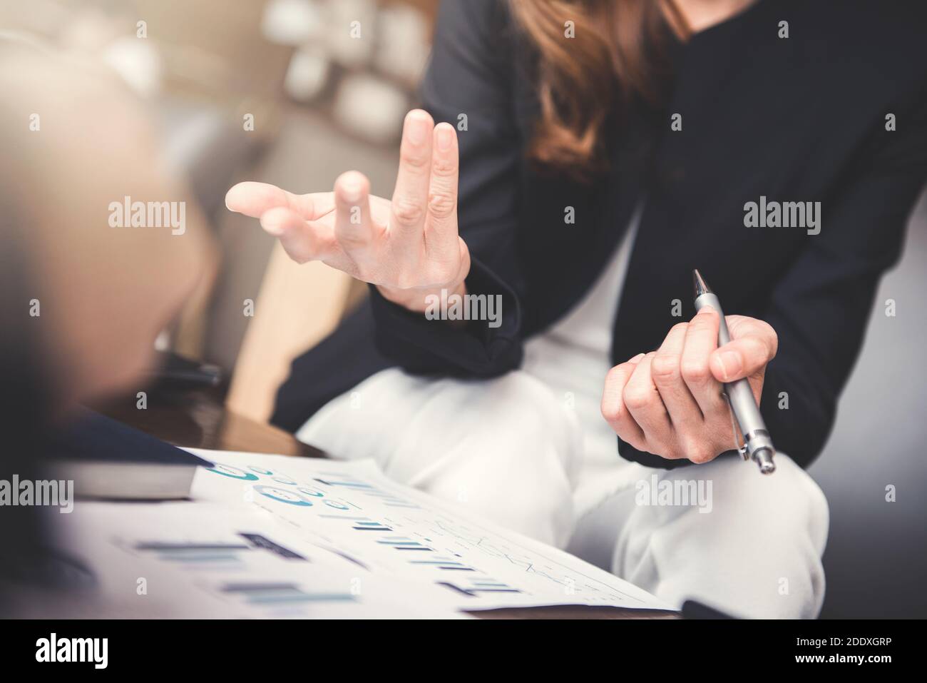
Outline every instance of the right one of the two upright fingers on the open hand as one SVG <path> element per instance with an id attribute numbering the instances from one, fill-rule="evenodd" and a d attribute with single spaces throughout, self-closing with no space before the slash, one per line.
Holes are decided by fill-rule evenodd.
<path id="1" fill-rule="evenodd" d="M 457 256 L 458 167 L 457 131 L 450 123 L 438 123 L 432 139 L 428 212 L 425 217 L 425 242 L 435 247 L 438 258 L 442 253 Z"/>

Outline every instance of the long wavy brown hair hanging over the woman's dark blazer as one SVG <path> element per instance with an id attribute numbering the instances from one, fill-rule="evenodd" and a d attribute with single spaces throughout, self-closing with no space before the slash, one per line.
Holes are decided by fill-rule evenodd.
<path id="1" fill-rule="evenodd" d="M 588 178 L 604 167 L 603 123 L 616 103 L 659 98 L 666 30 L 685 37 L 685 20 L 672 0 L 509 3 L 539 58 L 540 120 L 528 159 Z M 567 27 L 575 37 L 566 39 Z"/>

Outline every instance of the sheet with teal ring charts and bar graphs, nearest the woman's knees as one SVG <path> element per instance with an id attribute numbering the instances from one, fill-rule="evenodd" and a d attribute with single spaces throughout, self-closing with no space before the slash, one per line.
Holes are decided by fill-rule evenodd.
<path id="1" fill-rule="evenodd" d="M 557 604 L 671 609 L 561 550 L 392 483 L 371 460 L 195 452 L 216 463 L 197 470 L 197 503 L 273 518 L 366 573 L 402 579 L 402 589 L 438 589 L 461 610 Z"/>

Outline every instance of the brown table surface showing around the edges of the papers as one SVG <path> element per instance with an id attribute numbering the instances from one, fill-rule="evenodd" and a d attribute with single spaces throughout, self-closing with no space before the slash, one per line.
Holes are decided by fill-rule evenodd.
<path id="1" fill-rule="evenodd" d="M 271 453 L 293 457 L 325 457 L 323 451 L 303 444 L 292 434 L 269 424 L 244 418 L 222 406 L 213 389 L 154 390 L 147 407 L 135 406 L 134 395 L 92 406 L 141 432 L 173 445 L 215 450 Z M 626 610 L 615 607 L 564 605 L 473 612 L 483 619 L 677 619 L 677 612 Z"/>

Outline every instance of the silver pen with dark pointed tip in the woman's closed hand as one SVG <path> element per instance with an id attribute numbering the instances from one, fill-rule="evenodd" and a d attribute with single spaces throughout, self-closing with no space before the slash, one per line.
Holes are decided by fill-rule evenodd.
<path id="1" fill-rule="evenodd" d="M 720 328 L 717 330 L 717 345 L 723 346 L 730 342 L 730 333 L 728 325 L 724 321 L 724 311 L 721 310 L 721 302 L 717 300 L 715 292 L 705 283 L 702 274 L 698 269 L 692 271 L 692 282 L 695 284 L 695 310 L 701 310 L 703 306 L 711 306 L 717 311 L 721 318 Z M 759 465 L 759 470 L 763 474 L 771 474 L 776 471 L 776 463 L 772 457 L 776 454 L 776 449 L 772 446 L 772 439 L 766 429 L 766 423 L 763 422 L 763 416 L 759 413 L 759 406 L 756 406 L 756 399 L 753 390 L 750 388 L 750 382 L 746 378 L 732 381 L 724 385 L 724 391 L 728 396 L 730 409 L 737 419 L 737 425 L 743 434 L 743 448 L 739 449 L 743 459 L 753 458 Z"/>

